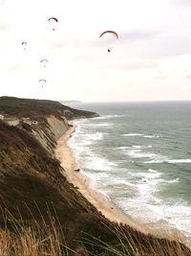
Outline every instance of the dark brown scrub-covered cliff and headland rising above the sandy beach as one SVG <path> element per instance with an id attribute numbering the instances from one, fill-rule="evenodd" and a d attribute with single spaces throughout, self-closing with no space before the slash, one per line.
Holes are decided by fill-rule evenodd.
<path id="1" fill-rule="evenodd" d="M 63 243 L 75 251 L 70 255 L 115 255 L 104 254 L 101 246 L 83 243 L 85 234 L 122 249 L 114 232 L 117 223 L 102 216 L 67 181 L 62 175 L 65 171 L 54 157 L 56 140 L 67 130 L 68 120 L 97 114 L 52 101 L 11 97 L 0 98 L 0 114 L 3 116 L 0 121 L 0 228 L 11 230 L 12 220 L 24 221 L 27 225 L 36 221 L 49 224 L 51 213 L 59 220 L 65 237 Z M 120 230 L 131 237 L 145 255 L 170 255 L 153 253 L 151 244 L 155 241 L 164 251 L 171 245 L 174 247 L 174 243 L 146 236 L 125 225 L 121 225 Z M 127 255 L 143 255 L 136 254 L 128 241 L 123 243 L 129 249 Z M 185 252 L 181 255 L 191 255 L 183 244 L 179 247 Z"/>

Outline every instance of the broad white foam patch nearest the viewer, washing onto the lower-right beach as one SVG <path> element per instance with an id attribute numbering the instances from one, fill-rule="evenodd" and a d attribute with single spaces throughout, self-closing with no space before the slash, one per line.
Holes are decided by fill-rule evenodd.
<path id="1" fill-rule="evenodd" d="M 191 236 L 191 206 L 183 204 L 169 205 L 156 198 L 156 204 L 142 201 L 142 198 L 118 198 L 116 203 L 134 220 L 142 223 L 160 222 L 165 230 L 173 226 Z"/>

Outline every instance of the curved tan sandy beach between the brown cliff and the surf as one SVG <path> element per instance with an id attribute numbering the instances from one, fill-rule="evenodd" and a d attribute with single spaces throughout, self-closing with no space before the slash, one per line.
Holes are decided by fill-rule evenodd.
<path id="1" fill-rule="evenodd" d="M 158 224 L 158 227 L 155 225 L 154 227 L 153 223 L 143 224 L 134 221 L 106 196 L 96 191 L 96 189 L 91 186 L 91 179 L 88 176 L 81 172 L 74 171 L 79 168 L 74 158 L 74 151 L 68 146 L 67 141 L 73 136 L 75 126 L 74 122 L 69 122 L 69 124 L 73 125 L 73 127 L 69 127 L 68 130 L 60 137 L 57 141 L 57 147 L 55 150 L 55 156 L 60 161 L 62 168 L 65 170 L 63 175 L 66 176 L 67 180 L 73 183 L 74 187 L 110 221 L 125 223 L 145 234 L 152 234 L 160 238 L 176 240 L 183 244 L 187 244 L 185 235 L 174 227 L 163 229 L 160 224 Z"/>

